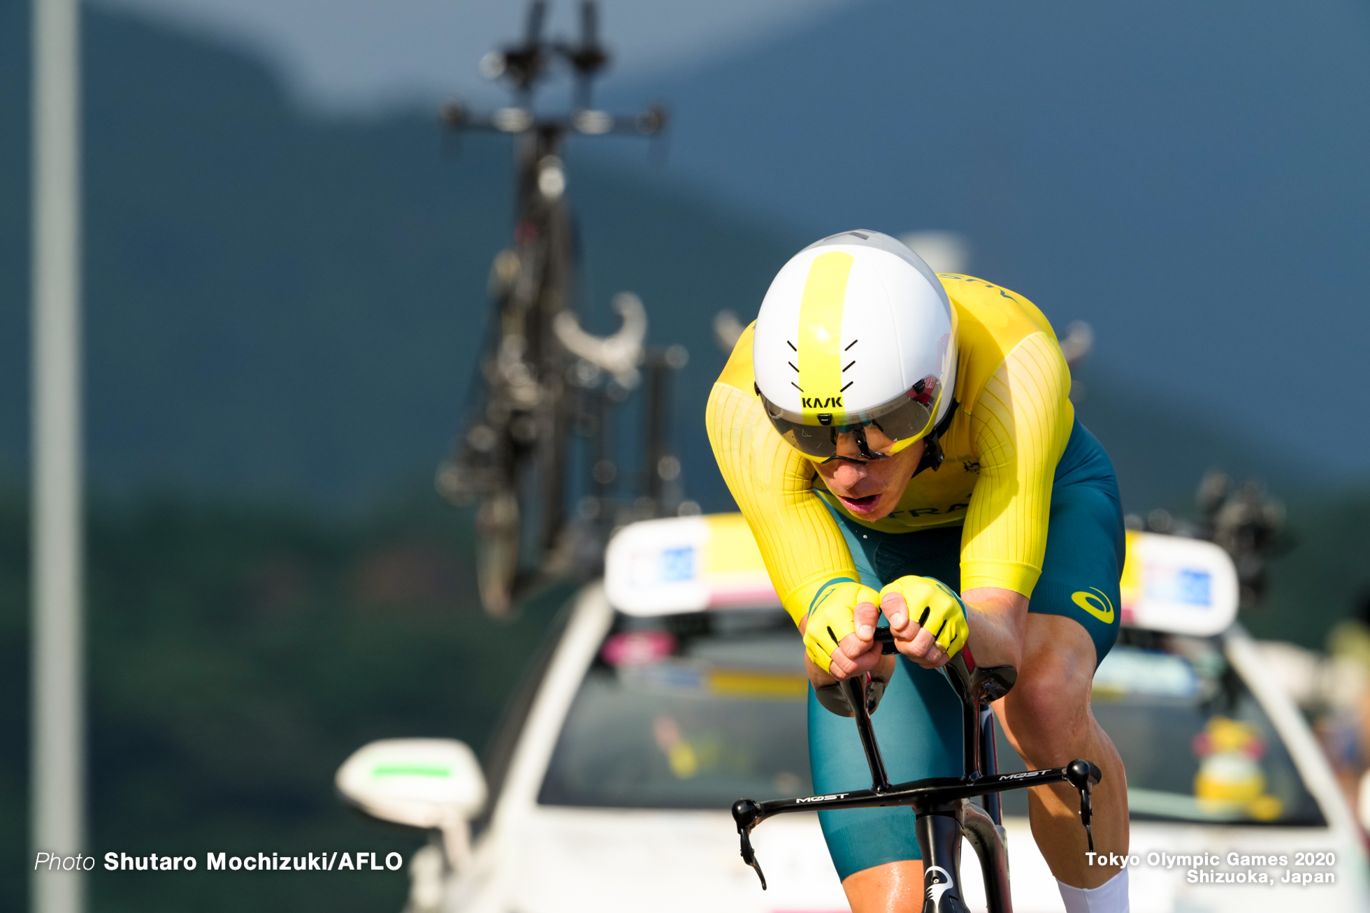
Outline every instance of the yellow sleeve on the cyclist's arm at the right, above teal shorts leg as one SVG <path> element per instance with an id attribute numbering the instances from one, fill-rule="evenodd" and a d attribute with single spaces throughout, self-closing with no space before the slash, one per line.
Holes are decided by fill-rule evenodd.
<path id="1" fill-rule="evenodd" d="M 962 531 L 960 586 L 1026 597 L 1041 575 L 1051 483 L 1074 408 L 1070 368 L 1045 333 L 1023 338 L 981 390 L 970 416 L 980 479 Z"/>

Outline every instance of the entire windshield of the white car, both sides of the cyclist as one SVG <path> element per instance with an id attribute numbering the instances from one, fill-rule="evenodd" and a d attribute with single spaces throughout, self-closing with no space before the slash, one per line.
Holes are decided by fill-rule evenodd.
<path id="1" fill-rule="evenodd" d="M 562 727 L 544 805 L 726 809 L 807 795 L 807 676 L 777 610 L 621 616 Z M 1133 819 L 1321 825 L 1266 713 L 1217 641 L 1123 630 L 1095 717 L 1128 771 Z M 1000 731 L 999 768 L 1025 769 Z M 1026 791 L 1003 794 L 1026 816 Z"/>

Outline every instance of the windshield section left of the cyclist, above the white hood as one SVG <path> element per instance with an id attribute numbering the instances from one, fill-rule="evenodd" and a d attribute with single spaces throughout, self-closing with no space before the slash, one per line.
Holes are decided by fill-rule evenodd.
<path id="1" fill-rule="evenodd" d="M 562 727 L 544 805 L 726 809 L 812 791 L 808 678 L 778 610 L 621 616 Z"/>

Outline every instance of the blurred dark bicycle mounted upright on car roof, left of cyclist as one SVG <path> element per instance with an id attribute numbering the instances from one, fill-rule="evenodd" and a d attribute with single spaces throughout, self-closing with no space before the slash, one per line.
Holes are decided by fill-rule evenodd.
<path id="1" fill-rule="evenodd" d="M 666 112 L 660 107 L 636 115 L 595 110 L 590 83 L 610 59 L 599 42 L 595 4 L 581 4 L 581 38 L 574 45 L 545 40 L 545 0 L 534 0 L 522 44 L 490 52 L 481 62 L 485 75 L 510 83 L 512 107 L 480 114 L 449 104 L 443 112 L 456 130 L 515 138 L 518 216 L 514 244 L 496 256 L 490 270 L 493 312 L 480 363 L 478 402 L 455 452 L 437 472 L 438 491 L 447 500 L 478 505 L 477 578 L 481 601 L 495 616 L 507 615 L 522 591 L 541 582 L 597 568 L 608 531 L 623 522 L 608 509 L 618 475 L 604 430 L 612 407 L 637 386 L 644 360 L 652 402 L 664 400 L 669 372 L 685 361 L 680 346 L 644 350 L 647 316 L 637 296 L 615 296 L 614 309 L 623 324 L 608 338 L 585 333 L 575 318 L 563 140 L 569 134 L 659 136 Z M 543 115 L 533 108 L 533 93 L 556 62 L 570 64 L 574 73 L 573 110 Z M 601 383 L 603 374 L 612 381 Z M 564 509 L 573 431 L 597 439 L 595 497 L 588 498 L 596 508 L 589 522 L 596 534 L 589 537 L 584 528 L 571 530 Z M 674 480 L 680 471 L 678 463 L 670 463 L 664 433 L 662 422 L 647 422 L 643 496 L 652 506 L 638 511 L 644 516 L 627 519 L 673 509 L 660 482 Z"/>

